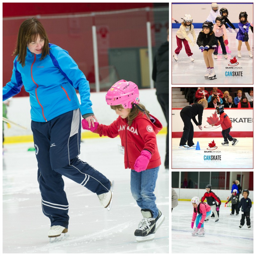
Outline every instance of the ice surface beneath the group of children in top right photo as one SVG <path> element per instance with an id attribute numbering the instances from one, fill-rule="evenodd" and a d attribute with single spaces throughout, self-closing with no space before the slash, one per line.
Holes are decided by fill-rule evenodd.
<path id="1" fill-rule="evenodd" d="M 233 29 L 232 29 L 233 30 Z M 177 48 L 176 32 L 178 28 L 172 28 L 172 52 L 174 54 Z M 196 39 L 199 32 L 202 31 L 201 28 L 195 28 Z M 204 78 L 206 73 L 206 66 L 204 63 L 203 53 L 199 50 L 197 44 L 195 46 L 190 46 L 191 52 L 193 53 L 194 62 L 190 61 L 188 55 L 185 52 L 184 44 L 182 43 L 182 49 L 178 55 L 178 61 L 176 62 L 172 55 L 172 84 L 253 84 L 253 59 L 249 57 L 245 43 L 242 43 L 241 55 L 242 58 L 237 57 L 237 47 L 238 40 L 236 39 L 236 32 L 233 33 L 227 31 L 228 35 L 228 47 L 231 53 L 228 53 L 228 59 L 226 60 L 222 54 L 218 54 L 218 59 L 214 59 L 214 71 L 216 73 L 217 79 L 209 80 Z M 251 52 L 253 55 L 253 34 L 249 30 L 249 44 L 251 47 Z M 189 34 L 189 37 L 193 41 L 193 36 Z M 226 69 L 229 67 L 228 64 L 230 59 L 234 58 L 239 63 L 235 66 L 236 69 Z M 242 69 L 237 69 L 237 67 L 242 67 Z M 226 71 L 243 71 L 243 76 L 225 76 Z M 240 73 L 241 74 L 241 73 Z"/>

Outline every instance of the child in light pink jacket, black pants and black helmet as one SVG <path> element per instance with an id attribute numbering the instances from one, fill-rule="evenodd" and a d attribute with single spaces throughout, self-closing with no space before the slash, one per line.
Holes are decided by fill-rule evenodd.
<path id="1" fill-rule="evenodd" d="M 224 55 L 224 58 L 228 59 L 227 50 L 225 47 L 225 44 L 228 45 L 228 36 L 227 36 L 227 32 L 226 32 L 226 27 L 224 25 L 225 19 L 223 16 L 217 16 L 215 19 L 215 22 L 216 22 L 216 24 L 214 24 L 214 26 L 213 26 L 213 32 L 215 34 L 215 39 L 217 41 L 217 44 L 216 44 L 217 48 L 213 52 L 214 59 L 218 59 L 219 47 L 221 47 L 221 49 L 222 49 L 222 54 Z M 223 42 L 223 35 L 224 35 L 224 42 Z M 220 46 L 219 46 L 218 40 L 220 42 Z"/>

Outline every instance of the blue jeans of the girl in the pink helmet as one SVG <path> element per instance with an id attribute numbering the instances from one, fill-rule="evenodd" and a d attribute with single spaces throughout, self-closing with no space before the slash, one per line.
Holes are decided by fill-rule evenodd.
<path id="1" fill-rule="evenodd" d="M 142 172 L 131 170 L 132 196 L 141 209 L 149 209 L 153 212 L 153 218 L 158 216 L 154 194 L 158 171 L 159 166 Z"/>

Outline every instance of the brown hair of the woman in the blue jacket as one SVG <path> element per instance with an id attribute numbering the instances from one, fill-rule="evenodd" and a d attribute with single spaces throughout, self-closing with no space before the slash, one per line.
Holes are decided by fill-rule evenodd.
<path id="1" fill-rule="evenodd" d="M 18 55 L 17 61 L 21 63 L 22 67 L 25 66 L 27 44 L 35 42 L 37 35 L 39 35 L 41 39 L 44 39 L 42 56 L 40 58 L 40 60 L 43 60 L 50 53 L 50 48 L 49 39 L 42 23 L 36 18 L 29 18 L 21 23 L 17 38 L 17 46 L 12 55 Z"/>

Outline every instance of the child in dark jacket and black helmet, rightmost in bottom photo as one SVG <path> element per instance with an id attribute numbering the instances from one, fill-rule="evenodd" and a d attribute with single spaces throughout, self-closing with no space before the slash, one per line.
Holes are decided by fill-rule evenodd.
<path id="1" fill-rule="evenodd" d="M 246 218 L 247 228 L 251 229 L 250 210 L 252 207 L 252 200 L 248 196 L 249 196 L 249 190 L 244 189 L 243 190 L 244 198 L 242 198 L 240 200 L 240 203 L 238 204 L 238 210 L 240 210 L 240 208 L 242 207 L 242 219 L 240 220 L 239 228 L 242 228 L 244 226 L 244 219 Z"/>

